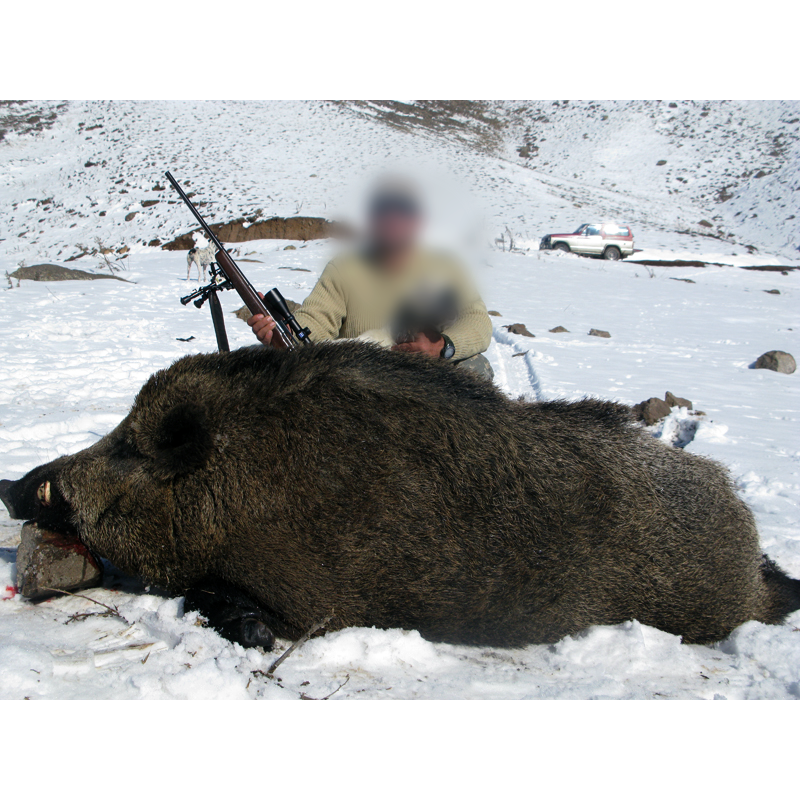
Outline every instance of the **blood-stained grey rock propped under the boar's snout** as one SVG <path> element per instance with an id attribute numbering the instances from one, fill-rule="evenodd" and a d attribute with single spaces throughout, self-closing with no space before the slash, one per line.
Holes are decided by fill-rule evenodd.
<path id="1" fill-rule="evenodd" d="M 22 526 L 17 589 L 23 597 L 39 600 L 58 594 L 54 590 L 76 592 L 102 580 L 102 565 L 78 539 L 43 530 L 35 522 Z"/>

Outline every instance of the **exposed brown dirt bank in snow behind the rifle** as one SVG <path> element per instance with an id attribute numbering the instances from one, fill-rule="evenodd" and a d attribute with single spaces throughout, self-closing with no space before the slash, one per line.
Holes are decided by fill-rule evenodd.
<path id="1" fill-rule="evenodd" d="M 301 242 L 311 239 L 343 239 L 351 233 L 346 225 L 322 217 L 272 217 L 261 222 L 242 218 L 233 222 L 219 222 L 209 227 L 226 244 L 252 242 L 256 239 L 293 239 Z M 200 229 L 196 228 L 178 236 L 161 245 L 161 249 L 191 250 L 194 247 L 194 233 L 200 233 Z"/>

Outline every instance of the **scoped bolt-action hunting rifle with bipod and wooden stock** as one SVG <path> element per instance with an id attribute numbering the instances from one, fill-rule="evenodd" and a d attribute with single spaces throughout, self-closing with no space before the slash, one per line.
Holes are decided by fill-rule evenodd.
<path id="1" fill-rule="evenodd" d="M 208 240 L 217 248 L 214 256 L 216 264 L 211 264 L 211 282 L 186 297 L 181 297 L 181 303 L 187 305 L 194 300 L 195 306 L 201 308 L 206 300 L 209 301 L 211 319 L 214 323 L 214 333 L 220 353 L 230 352 L 228 335 L 225 332 L 225 318 L 222 316 L 222 306 L 217 297 L 217 292 L 224 289 L 235 289 L 252 314 L 263 314 L 265 317 L 272 317 L 275 320 L 275 330 L 272 334 L 273 347 L 280 350 L 294 350 L 298 341 L 310 344 L 308 328 L 303 328 L 294 318 L 283 295 L 277 289 L 272 289 L 264 295 L 262 300 L 170 172 L 167 172 L 167 180 L 194 214 Z"/>

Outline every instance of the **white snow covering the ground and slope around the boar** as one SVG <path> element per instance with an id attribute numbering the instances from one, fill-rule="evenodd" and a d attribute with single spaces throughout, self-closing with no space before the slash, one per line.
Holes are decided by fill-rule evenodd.
<path id="1" fill-rule="evenodd" d="M 179 179 L 191 176 L 190 188 L 197 191 L 197 199 L 214 201 L 213 209 L 205 210 L 213 210 L 217 220 L 257 207 L 264 208 L 265 217 L 291 215 L 300 203 L 301 213 L 324 215 L 327 198 L 337 192 L 343 197 L 347 181 L 361 174 L 361 165 L 374 166 L 389 151 L 406 160 L 418 152 L 420 161 L 439 168 L 452 165 L 453 172 L 471 180 L 476 203 L 487 209 L 492 238 L 507 225 L 523 231 L 517 212 L 526 198 L 530 207 L 524 226 L 531 243 L 548 230 L 574 228 L 595 214 L 606 218 L 613 210 L 613 203 L 605 206 L 603 199 L 611 195 L 603 195 L 602 186 L 596 194 L 588 173 L 570 180 L 575 190 L 595 198 L 596 208 L 576 210 L 551 191 L 554 182 L 563 190 L 566 179 L 537 177 L 536 171 L 511 164 L 505 157 L 472 151 L 446 138 L 386 128 L 375 118 L 376 109 L 368 118 L 360 111 L 311 103 L 231 104 L 224 109 L 215 104 L 130 103 L 119 108 L 127 116 L 116 119 L 115 107 L 106 104 L 72 104 L 52 128 L 35 137 L 9 134 L 0 144 L 4 176 L 0 238 L 5 239 L 0 242 L 0 272 L 13 271 L 22 259 L 63 263 L 78 252 L 78 244 L 91 246 L 95 235 L 110 246 L 125 243 L 131 248 L 124 262 L 127 270 L 120 273 L 127 283 L 21 281 L 17 285 L 11 280 L 9 288 L 0 291 L 0 474 L 4 478 L 20 477 L 40 463 L 97 441 L 122 419 L 153 371 L 186 353 L 215 348 L 208 310 L 178 302 L 197 285 L 184 279 L 185 253 L 162 252 L 141 243 L 185 231 L 190 224 L 185 209 L 164 202 L 169 197 L 165 193 L 158 205 L 124 223 L 134 200 L 146 199 L 157 181 L 163 185 L 159 176 L 166 167 Z M 785 107 L 780 113 L 769 111 L 765 125 L 777 124 L 786 111 Z M 712 117 L 723 113 L 727 112 L 712 104 Z M 753 125 L 757 117 L 746 111 Z M 231 118 L 235 144 L 230 132 L 231 138 L 214 143 L 215 133 Z M 98 130 L 108 131 L 106 137 L 118 128 L 115 135 L 125 147 L 101 148 L 95 138 L 98 130 L 76 132 L 78 121 L 86 128 L 92 120 L 104 125 Z M 562 127 L 572 130 L 567 121 Z M 637 122 L 634 134 L 645 141 L 640 128 Z M 575 128 L 564 153 L 572 152 L 572 139 L 584 141 L 582 132 Z M 93 138 L 87 143 L 88 136 Z M 656 141 L 662 140 L 656 137 Z M 709 145 L 709 158 L 718 157 L 723 144 Z M 702 152 L 703 145 L 698 139 L 691 141 L 691 147 Z M 111 156 L 120 152 L 125 163 L 112 162 Z M 653 163 L 660 157 L 655 149 L 648 155 Z M 109 166 L 83 168 L 90 158 L 100 163 L 105 158 Z M 618 169 L 624 177 L 608 153 L 598 158 L 607 162 L 609 176 Z M 792 168 L 788 159 L 775 174 Z M 508 180 L 497 180 L 500 172 Z M 129 195 L 134 197 L 127 204 L 124 195 L 108 193 L 110 178 L 117 179 L 117 174 L 133 187 Z M 322 177 L 308 177 L 311 174 Z M 746 190 L 746 186 L 741 189 Z M 58 204 L 50 212 L 41 206 L 36 210 L 35 200 L 24 202 L 49 196 Z M 637 247 L 647 248 L 648 258 L 657 252 L 666 260 L 690 254 L 692 260 L 708 264 L 796 263 L 785 246 L 785 229 L 777 224 L 781 222 L 777 215 L 775 248 L 765 246 L 769 230 L 759 229 L 757 254 L 745 247 L 754 241 L 748 238 L 747 226 L 743 233 L 732 228 L 737 238 L 741 234 L 742 243 L 730 246 L 700 233 L 670 232 L 667 223 L 687 214 L 687 208 L 694 214 L 694 202 L 689 195 L 665 194 L 657 205 L 645 203 L 637 211 Z M 106 216 L 96 217 L 92 203 L 107 209 Z M 68 209 L 77 214 L 67 214 Z M 647 215 L 659 209 L 668 215 L 648 226 Z M 766 219 L 763 211 L 758 213 L 759 219 Z M 540 221 L 534 225 L 537 215 Z M 551 225 L 552 217 L 561 224 Z M 80 221 L 76 228 L 69 228 L 72 218 Z M 44 221 L 36 225 L 38 219 Z M 32 233 L 20 238 L 18 233 L 25 230 Z M 283 249 L 287 244 L 248 242 L 237 246 L 237 255 L 256 286 L 277 286 L 285 296 L 300 301 L 337 245 L 293 242 L 297 249 L 287 251 Z M 98 260 L 84 256 L 67 266 L 94 269 Z M 689 452 L 725 464 L 756 515 L 765 552 L 800 577 L 798 375 L 749 368 L 767 350 L 800 353 L 800 272 L 609 264 L 535 247 L 522 253 L 484 250 L 473 266 L 488 307 L 502 315 L 492 318 L 488 355 L 503 391 L 531 399 L 594 395 L 636 403 L 663 397 L 669 390 L 692 400 L 704 416 L 676 409 L 654 428 L 654 435 L 665 446 L 685 441 Z M 768 294 L 772 289 L 780 294 Z M 240 305 L 233 293 L 223 297 L 232 347 L 254 342 L 247 326 L 232 316 Z M 535 338 L 511 334 L 503 327 L 515 322 L 524 323 Z M 557 325 L 569 332 L 549 333 Z M 590 328 L 607 330 L 611 338 L 589 336 Z M 195 338 L 178 341 L 190 336 Z M 710 647 L 681 644 L 677 637 L 636 621 L 591 628 L 553 646 L 516 650 L 431 643 L 415 631 L 350 629 L 307 642 L 281 665 L 275 678 L 267 678 L 263 673 L 288 642 L 279 642 L 271 654 L 245 650 L 199 627 L 196 615 L 183 614 L 181 599 L 113 569 L 102 588 L 85 594 L 116 608 L 119 616 L 103 615 L 108 609 L 82 598 L 33 605 L 15 596 L 19 529 L 18 522 L 0 511 L 0 697 L 4 698 L 800 696 L 800 613 L 780 626 L 747 623 Z"/>

